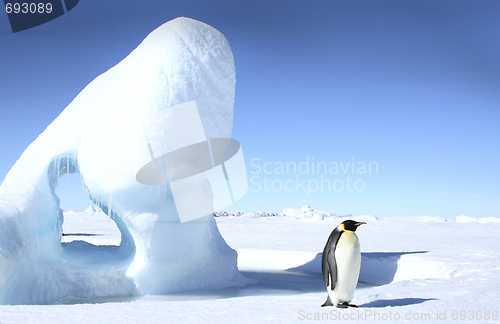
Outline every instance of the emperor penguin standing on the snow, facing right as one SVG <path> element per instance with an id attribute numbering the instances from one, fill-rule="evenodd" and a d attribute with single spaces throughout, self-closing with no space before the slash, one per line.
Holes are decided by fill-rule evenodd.
<path id="1" fill-rule="evenodd" d="M 321 260 L 328 298 L 321 307 L 358 307 L 349 302 L 354 296 L 361 267 L 359 240 L 354 233 L 361 224 L 366 223 L 346 220 L 328 237 Z"/>

